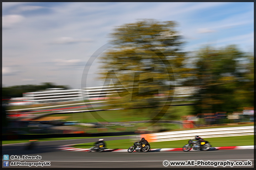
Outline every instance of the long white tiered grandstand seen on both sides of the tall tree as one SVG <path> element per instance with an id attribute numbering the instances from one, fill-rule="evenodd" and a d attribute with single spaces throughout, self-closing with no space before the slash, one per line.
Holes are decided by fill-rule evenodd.
<path id="1" fill-rule="evenodd" d="M 104 100 L 116 92 L 122 92 L 124 87 L 95 86 L 81 89 L 65 90 L 63 88 L 51 88 L 36 92 L 23 93 L 23 103 L 46 104 L 54 102 L 72 102 L 84 100 Z M 174 100 L 187 100 L 197 90 L 196 87 L 175 87 Z M 15 103 L 12 103 L 15 105 Z"/>

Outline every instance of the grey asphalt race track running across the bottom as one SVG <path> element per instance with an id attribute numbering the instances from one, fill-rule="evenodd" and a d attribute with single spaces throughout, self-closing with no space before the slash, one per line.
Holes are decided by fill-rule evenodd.
<path id="1" fill-rule="evenodd" d="M 105 141 L 126 139 L 129 136 L 122 137 L 105 137 Z M 237 149 L 237 150 L 217 150 L 217 151 L 154 151 L 147 153 L 140 152 L 79 152 L 79 151 L 62 151 L 56 149 L 60 145 L 71 145 L 76 143 L 95 142 L 99 138 L 63 140 L 63 141 L 46 141 L 37 142 L 33 150 L 26 150 L 27 143 L 12 144 L 2 146 L 3 155 L 34 155 L 41 156 L 40 160 L 11 160 L 11 162 L 50 162 L 50 166 L 9 166 L 2 168 L 215 168 L 214 166 L 171 166 L 170 161 L 229 161 L 229 162 L 251 162 L 251 166 L 233 166 L 236 168 L 254 168 L 254 149 Z M 131 142 L 132 143 L 132 142 Z M 131 144 L 132 145 L 132 144 Z M 113 148 L 116 149 L 116 148 Z M 127 148 L 128 149 L 128 148 Z M 164 166 L 164 161 L 169 165 Z M 186 162 L 187 163 L 187 162 Z M 191 162 L 192 163 L 192 162 Z M 216 168 L 223 168 L 217 166 Z M 225 166 L 231 168 L 231 166 Z"/>

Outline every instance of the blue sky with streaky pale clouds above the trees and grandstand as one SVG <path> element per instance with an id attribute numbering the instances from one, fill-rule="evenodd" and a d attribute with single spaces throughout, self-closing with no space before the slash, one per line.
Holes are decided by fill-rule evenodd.
<path id="1" fill-rule="evenodd" d="M 2 2 L 2 85 L 81 88 L 87 61 L 117 26 L 176 21 L 186 51 L 237 44 L 254 51 L 253 2 Z M 100 49 L 100 52 L 99 52 Z M 97 58 L 86 86 L 100 86 Z"/>

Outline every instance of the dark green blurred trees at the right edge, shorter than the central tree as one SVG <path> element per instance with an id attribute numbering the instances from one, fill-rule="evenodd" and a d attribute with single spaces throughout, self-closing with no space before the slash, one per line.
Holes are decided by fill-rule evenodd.
<path id="1" fill-rule="evenodd" d="M 196 57 L 194 79 L 187 82 L 200 89 L 195 113 L 232 113 L 253 106 L 253 55 L 229 45 L 218 49 L 204 47 Z"/>

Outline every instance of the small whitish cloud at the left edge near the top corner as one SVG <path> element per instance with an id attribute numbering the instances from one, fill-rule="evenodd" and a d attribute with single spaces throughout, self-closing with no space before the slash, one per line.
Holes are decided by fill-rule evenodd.
<path id="1" fill-rule="evenodd" d="M 2 28 L 10 28 L 24 19 L 21 15 L 2 16 Z"/>

